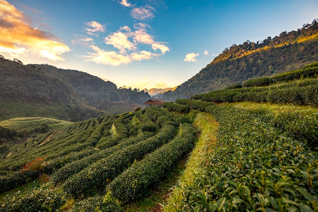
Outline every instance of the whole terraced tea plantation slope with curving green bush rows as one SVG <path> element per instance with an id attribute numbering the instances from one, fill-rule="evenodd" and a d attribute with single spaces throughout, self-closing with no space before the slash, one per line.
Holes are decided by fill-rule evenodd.
<path id="1" fill-rule="evenodd" d="M 184 159 L 162 211 L 317 211 L 317 73 L 312 64 L 29 138 L 1 159 L 0 211 L 132 211 Z"/>

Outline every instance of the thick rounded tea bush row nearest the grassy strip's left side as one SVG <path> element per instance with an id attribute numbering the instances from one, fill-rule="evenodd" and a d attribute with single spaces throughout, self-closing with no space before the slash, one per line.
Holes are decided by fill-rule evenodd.
<path id="1" fill-rule="evenodd" d="M 107 189 L 116 198 L 125 202 L 138 199 L 167 176 L 176 162 L 193 148 L 195 140 L 194 127 L 191 124 L 181 125 L 179 134 L 172 141 L 123 171 Z"/>

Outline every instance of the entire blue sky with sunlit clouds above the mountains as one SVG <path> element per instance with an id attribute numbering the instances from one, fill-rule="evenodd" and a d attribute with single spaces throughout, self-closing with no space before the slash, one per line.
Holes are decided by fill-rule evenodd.
<path id="1" fill-rule="evenodd" d="M 178 86 L 233 44 L 318 18 L 318 0 L 0 0 L 0 54 L 117 87 Z"/>

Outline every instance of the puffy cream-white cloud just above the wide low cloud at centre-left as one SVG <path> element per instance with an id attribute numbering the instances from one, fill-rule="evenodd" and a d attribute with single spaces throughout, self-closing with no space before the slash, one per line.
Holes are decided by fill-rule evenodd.
<path id="1" fill-rule="evenodd" d="M 132 50 L 136 49 L 135 44 L 128 40 L 128 36 L 122 32 L 113 33 L 112 35 L 105 38 L 105 43 L 114 46 L 121 52 L 125 49 Z"/>

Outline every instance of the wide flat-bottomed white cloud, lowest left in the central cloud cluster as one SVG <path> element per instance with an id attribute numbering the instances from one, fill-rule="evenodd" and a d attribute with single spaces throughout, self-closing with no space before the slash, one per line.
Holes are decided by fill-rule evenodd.
<path id="1" fill-rule="evenodd" d="M 111 66 L 120 66 L 123 64 L 130 64 L 132 62 L 129 55 L 118 54 L 115 51 L 104 51 L 94 45 L 91 45 L 90 47 L 94 52 L 87 52 L 88 55 L 84 56 L 86 61 Z"/>

